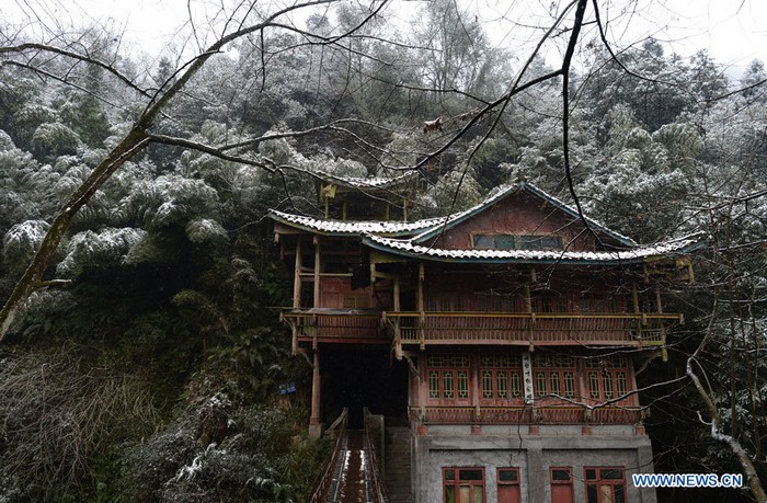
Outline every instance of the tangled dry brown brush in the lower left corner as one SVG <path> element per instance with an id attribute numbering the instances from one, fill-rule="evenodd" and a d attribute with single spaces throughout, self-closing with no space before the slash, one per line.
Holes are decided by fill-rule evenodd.
<path id="1" fill-rule="evenodd" d="M 154 428 L 145 378 L 83 354 L 2 351 L 0 500 L 75 501 L 107 446 Z"/>

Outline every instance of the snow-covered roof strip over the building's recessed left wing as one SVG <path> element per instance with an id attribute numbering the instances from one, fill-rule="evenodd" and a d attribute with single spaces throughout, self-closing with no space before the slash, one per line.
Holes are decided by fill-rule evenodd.
<path id="1" fill-rule="evenodd" d="M 446 218 L 428 218 L 416 221 L 381 221 L 381 220 L 329 220 L 302 215 L 291 215 L 288 213 L 272 209 L 270 216 L 277 221 L 298 227 L 304 230 L 332 233 L 336 236 L 366 236 L 386 235 L 402 236 L 438 227 L 445 224 Z"/>

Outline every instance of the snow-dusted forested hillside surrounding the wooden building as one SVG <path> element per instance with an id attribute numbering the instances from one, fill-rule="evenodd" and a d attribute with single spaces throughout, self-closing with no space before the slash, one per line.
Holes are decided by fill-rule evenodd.
<path id="1" fill-rule="evenodd" d="M 566 5 L 577 65 L 491 43 L 449 0 L 419 28 L 329 3 L 297 26 L 241 4 L 198 55 L 154 59 L 0 21 L 0 502 L 307 499 L 327 446 L 265 215 L 321 215 L 318 171 L 417 171 L 411 218 L 524 179 L 638 242 L 706 232 L 668 362 L 639 376 L 664 381 L 641 393 L 655 471 L 748 459 L 767 480 L 764 65 L 611 52 Z"/>

